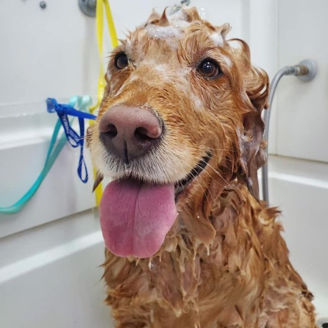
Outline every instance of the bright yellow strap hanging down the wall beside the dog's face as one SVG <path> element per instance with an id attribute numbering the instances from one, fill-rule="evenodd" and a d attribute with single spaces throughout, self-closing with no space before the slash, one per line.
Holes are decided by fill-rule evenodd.
<path id="1" fill-rule="evenodd" d="M 113 21 L 113 16 L 111 12 L 110 3 L 108 0 L 97 0 L 96 4 L 96 29 L 97 29 L 97 42 L 98 42 L 98 51 L 99 51 L 99 76 L 98 76 L 98 88 L 97 88 L 97 103 L 90 107 L 90 112 L 93 113 L 96 108 L 100 106 L 100 102 L 105 90 L 105 77 L 103 69 L 103 7 L 105 8 L 106 20 L 108 30 L 110 32 L 113 48 L 118 45 L 118 38 L 116 34 L 116 29 Z M 89 125 L 94 124 L 92 120 L 89 121 Z M 97 171 L 93 168 L 93 178 L 96 179 Z M 95 189 L 96 204 L 99 206 L 101 195 L 102 195 L 102 186 L 99 183 L 98 187 Z"/>

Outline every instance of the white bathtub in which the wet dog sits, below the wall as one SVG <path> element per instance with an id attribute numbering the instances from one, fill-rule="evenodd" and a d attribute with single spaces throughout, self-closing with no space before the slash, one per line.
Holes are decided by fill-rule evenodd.
<path id="1" fill-rule="evenodd" d="M 328 220 L 322 215 L 328 197 L 320 176 L 325 172 L 319 164 L 315 169 L 316 177 L 302 180 L 293 160 L 270 161 L 271 200 L 284 210 L 291 260 L 315 296 L 319 319 L 328 317 Z M 98 267 L 103 250 L 95 210 L 0 239 L 0 326 L 111 327 Z"/>

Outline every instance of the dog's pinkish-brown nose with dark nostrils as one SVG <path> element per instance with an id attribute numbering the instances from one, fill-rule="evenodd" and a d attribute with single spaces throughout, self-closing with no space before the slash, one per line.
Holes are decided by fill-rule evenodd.
<path id="1" fill-rule="evenodd" d="M 107 150 L 128 163 L 159 141 L 162 122 L 146 108 L 117 105 L 102 116 L 98 129 Z"/>

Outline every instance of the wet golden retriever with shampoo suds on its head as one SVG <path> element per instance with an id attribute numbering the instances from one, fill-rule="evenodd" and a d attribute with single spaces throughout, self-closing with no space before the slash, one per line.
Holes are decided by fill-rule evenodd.
<path id="1" fill-rule="evenodd" d="M 114 49 L 87 142 L 104 190 L 117 327 L 314 328 L 279 211 L 259 201 L 268 78 L 195 8 L 153 12 Z"/>

